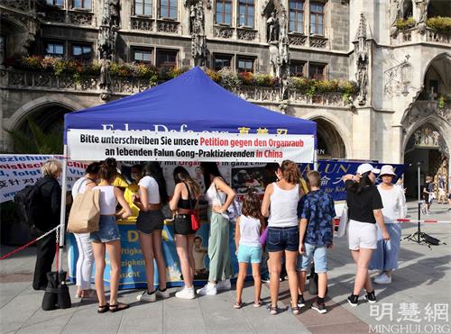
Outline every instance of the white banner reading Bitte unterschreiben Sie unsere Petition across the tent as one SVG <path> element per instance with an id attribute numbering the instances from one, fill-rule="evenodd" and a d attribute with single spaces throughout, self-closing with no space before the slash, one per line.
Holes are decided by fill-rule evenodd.
<path id="1" fill-rule="evenodd" d="M 313 162 L 312 135 L 211 132 L 68 131 L 72 160 Z"/>

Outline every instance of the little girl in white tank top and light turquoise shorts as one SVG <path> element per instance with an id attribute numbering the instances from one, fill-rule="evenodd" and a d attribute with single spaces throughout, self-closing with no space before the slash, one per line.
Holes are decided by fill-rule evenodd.
<path id="1" fill-rule="evenodd" d="M 252 265 L 253 282 L 255 284 L 253 306 L 262 306 L 262 301 L 260 300 L 262 291 L 262 277 L 260 275 L 262 245 L 260 244 L 260 236 L 264 230 L 264 219 L 260 208 L 261 202 L 258 194 L 250 190 L 244 196 L 242 215 L 238 217 L 235 225 L 235 245 L 239 266 L 238 278 L 236 279 L 235 309 L 240 309 L 243 306 L 241 296 L 249 262 Z"/>

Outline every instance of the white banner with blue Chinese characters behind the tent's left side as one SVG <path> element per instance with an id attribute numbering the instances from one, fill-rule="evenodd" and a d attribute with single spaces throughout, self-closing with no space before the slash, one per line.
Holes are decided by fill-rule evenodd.
<path id="1" fill-rule="evenodd" d="M 62 163 L 60 156 L 0 154 L 0 203 L 13 200 L 15 193 L 41 178 L 41 167 L 50 158 Z M 86 167 L 84 163 L 68 161 L 68 191 L 85 174 Z"/>

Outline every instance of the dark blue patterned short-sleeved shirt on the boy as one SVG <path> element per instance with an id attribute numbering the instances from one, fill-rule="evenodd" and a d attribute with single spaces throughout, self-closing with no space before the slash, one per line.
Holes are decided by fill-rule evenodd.
<path id="1" fill-rule="evenodd" d="M 334 236 L 332 220 L 336 217 L 332 196 L 322 190 L 314 190 L 303 198 L 300 218 L 308 220 L 304 242 L 317 246 L 332 244 Z"/>

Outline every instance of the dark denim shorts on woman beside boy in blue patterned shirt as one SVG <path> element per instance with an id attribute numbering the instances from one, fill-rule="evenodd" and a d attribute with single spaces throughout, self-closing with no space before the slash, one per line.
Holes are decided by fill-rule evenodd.
<path id="1" fill-rule="evenodd" d="M 297 252 L 299 249 L 299 227 L 269 227 L 266 249 L 269 252 L 290 250 Z"/>

